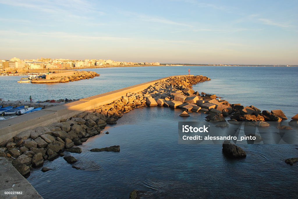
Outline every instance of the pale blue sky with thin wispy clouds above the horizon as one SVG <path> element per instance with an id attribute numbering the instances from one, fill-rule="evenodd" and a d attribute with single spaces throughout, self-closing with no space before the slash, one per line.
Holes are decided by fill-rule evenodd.
<path id="1" fill-rule="evenodd" d="M 0 59 L 298 65 L 297 0 L 0 0 Z"/>

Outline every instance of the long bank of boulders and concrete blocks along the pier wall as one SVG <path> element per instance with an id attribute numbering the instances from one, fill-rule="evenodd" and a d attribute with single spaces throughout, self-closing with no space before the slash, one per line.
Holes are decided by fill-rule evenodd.
<path id="1" fill-rule="evenodd" d="M 87 79 L 86 76 L 84 78 Z M 186 113 L 200 111 L 209 114 L 206 117 L 207 121 L 226 121 L 225 117 L 229 116 L 232 118 L 228 120 L 229 123 L 252 121 L 258 125 L 258 123 L 268 124 L 265 121 L 280 122 L 285 118 L 281 110 L 261 112 L 254 106 L 229 104 L 228 101 L 217 100 L 216 95 L 199 93 L 191 89 L 192 84 L 209 80 L 206 76 L 170 77 L 141 92 L 127 93 L 126 96 L 110 104 L 84 111 L 49 126 L 21 132 L 12 139 L 0 143 L 0 156 L 7 157 L 20 173 L 28 174 L 32 167 L 40 167 L 44 161 L 55 159 L 64 151 L 81 153 L 82 150 L 78 146 L 86 142 L 89 137 L 103 133 L 102 130 L 107 124 L 117 124 L 117 120 L 124 113 L 142 106 L 179 108 Z M 296 123 L 293 122 L 293 125 Z M 226 126 L 228 123 L 221 127 Z M 224 144 L 223 150 L 234 157 L 246 155 L 245 151 L 232 144 Z M 120 148 L 112 146 L 91 151 L 120 151 Z M 70 159 L 69 156 L 65 158 Z"/>

